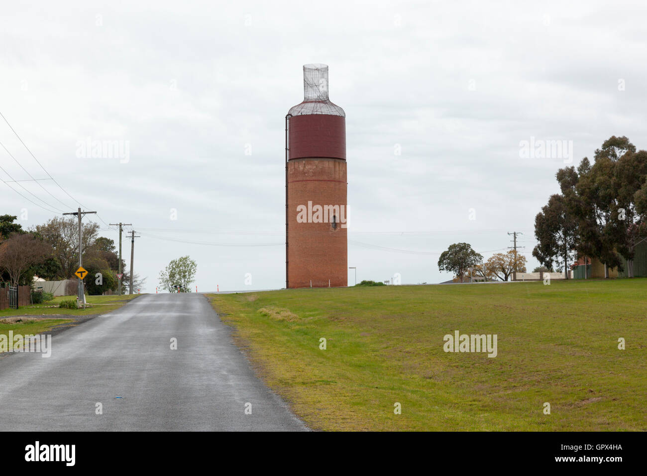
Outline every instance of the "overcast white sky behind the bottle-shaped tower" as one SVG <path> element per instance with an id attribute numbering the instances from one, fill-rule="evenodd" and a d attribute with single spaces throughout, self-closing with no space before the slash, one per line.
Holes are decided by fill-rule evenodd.
<path id="1" fill-rule="evenodd" d="M 572 141 L 575 165 L 611 135 L 646 148 L 645 19 L 642 2 L 590 0 L 6 3 L 0 111 L 73 199 L 12 185 L 54 212 L 133 223 L 142 292 L 182 255 L 199 291 L 249 288 L 245 273 L 280 288 L 284 117 L 302 65 L 326 63 L 347 115 L 358 280 L 440 282 L 448 245 L 487 258 L 511 231 L 532 268 L 534 216 L 569 158 L 522 158 L 520 142 Z M 127 160 L 77 157 L 88 139 L 123 141 Z M 2 120 L 0 142 L 48 177 Z M 2 148 L 0 164 L 30 178 Z M 0 185 L 0 213 L 27 209 L 23 227 L 54 216 Z"/>

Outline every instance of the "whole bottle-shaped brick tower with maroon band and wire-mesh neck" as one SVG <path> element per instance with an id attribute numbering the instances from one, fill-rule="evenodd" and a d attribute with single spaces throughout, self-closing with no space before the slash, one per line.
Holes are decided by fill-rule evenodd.
<path id="1" fill-rule="evenodd" d="M 285 120 L 285 286 L 347 286 L 346 119 L 328 66 L 303 66 L 303 102 Z"/>

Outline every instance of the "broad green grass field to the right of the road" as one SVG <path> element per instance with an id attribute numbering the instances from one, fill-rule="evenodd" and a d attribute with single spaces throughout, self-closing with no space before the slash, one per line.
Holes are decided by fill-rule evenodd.
<path id="1" fill-rule="evenodd" d="M 647 430 L 644 278 L 211 298 L 313 429 Z M 498 335 L 498 356 L 444 352 L 455 330 Z"/>

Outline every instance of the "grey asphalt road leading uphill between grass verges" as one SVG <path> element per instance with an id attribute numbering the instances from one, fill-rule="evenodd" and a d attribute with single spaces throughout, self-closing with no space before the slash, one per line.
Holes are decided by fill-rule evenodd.
<path id="1" fill-rule="evenodd" d="M 138 297 L 53 335 L 48 358 L 0 358 L 0 431 L 305 429 L 195 293 Z"/>

